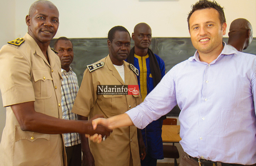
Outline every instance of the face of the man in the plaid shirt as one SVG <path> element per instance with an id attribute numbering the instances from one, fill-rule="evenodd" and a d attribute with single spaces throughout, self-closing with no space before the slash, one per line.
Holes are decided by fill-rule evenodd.
<path id="1" fill-rule="evenodd" d="M 55 47 L 61 60 L 61 68 L 68 71 L 70 64 L 73 62 L 74 52 L 73 45 L 69 40 L 59 40 Z"/>

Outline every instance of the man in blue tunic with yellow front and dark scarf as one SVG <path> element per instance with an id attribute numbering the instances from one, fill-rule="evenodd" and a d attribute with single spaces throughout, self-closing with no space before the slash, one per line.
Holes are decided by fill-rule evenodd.
<path id="1" fill-rule="evenodd" d="M 135 46 L 131 49 L 130 55 L 126 60 L 139 70 L 137 80 L 142 101 L 165 75 L 163 59 L 149 49 L 152 38 L 151 35 L 151 28 L 148 24 L 137 24 L 132 33 L 132 40 L 134 40 Z M 146 128 L 141 130 L 147 150 L 147 155 L 144 157 L 145 159 L 141 159 L 142 166 L 156 166 L 157 159 L 164 159 L 163 141 L 161 137 L 163 119 L 165 119 L 165 116 L 153 121 Z M 142 153 L 143 151 L 140 152 L 140 155 Z"/>

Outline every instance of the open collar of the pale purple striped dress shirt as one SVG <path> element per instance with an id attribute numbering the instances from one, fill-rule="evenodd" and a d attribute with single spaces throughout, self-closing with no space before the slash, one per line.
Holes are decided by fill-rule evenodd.
<path id="1" fill-rule="evenodd" d="M 232 50 L 230 47 L 228 47 L 225 42 L 222 42 L 222 44 L 223 44 L 223 46 L 224 46 L 223 50 L 221 51 L 220 55 L 219 55 L 214 61 L 212 61 L 210 64 L 214 64 L 216 61 L 218 61 L 218 59 L 220 59 L 220 58 L 223 57 L 223 56 L 232 55 L 232 54 L 234 54 L 234 53 L 236 52 L 236 51 Z M 206 63 L 206 62 L 201 62 L 201 61 L 199 60 L 198 50 L 195 51 L 194 56 L 188 58 L 188 60 L 191 61 L 191 62 L 192 62 L 192 61 L 197 61 L 197 62 L 199 62 L 199 63 L 208 64 L 208 63 Z"/>

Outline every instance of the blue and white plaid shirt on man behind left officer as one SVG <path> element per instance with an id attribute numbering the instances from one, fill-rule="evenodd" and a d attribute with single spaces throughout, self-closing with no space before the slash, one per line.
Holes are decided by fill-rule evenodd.
<path id="1" fill-rule="evenodd" d="M 62 82 L 61 82 L 61 105 L 62 105 L 62 118 L 67 120 L 77 120 L 77 115 L 72 113 L 72 107 L 77 95 L 79 86 L 76 74 L 69 67 L 69 71 L 61 69 Z M 64 134 L 65 147 L 80 144 L 79 133 L 65 133 Z"/>

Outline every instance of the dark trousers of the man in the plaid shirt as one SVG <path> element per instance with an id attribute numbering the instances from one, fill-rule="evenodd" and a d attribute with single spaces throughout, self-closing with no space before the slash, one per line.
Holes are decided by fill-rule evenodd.
<path id="1" fill-rule="evenodd" d="M 71 147 L 65 147 L 67 153 L 68 166 L 81 166 L 82 165 L 82 150 L 81 144 Z"/>

